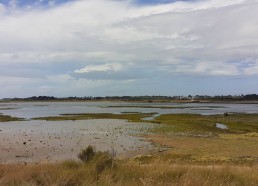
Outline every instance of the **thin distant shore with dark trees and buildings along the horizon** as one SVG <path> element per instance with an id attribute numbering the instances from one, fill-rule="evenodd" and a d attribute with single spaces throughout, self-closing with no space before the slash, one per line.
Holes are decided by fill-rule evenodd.
<path id="1" fill-rule="evenodd" d="M 103 97 L 54 97 L 54 96 L 32 96 L 27 98 L 3 98 L 0 102 L 144 102 L 144 103 L 244 103 L 257 104 L 257 94 L 247 95 L 188 95 L 188 96 L 103 96 Z"/>

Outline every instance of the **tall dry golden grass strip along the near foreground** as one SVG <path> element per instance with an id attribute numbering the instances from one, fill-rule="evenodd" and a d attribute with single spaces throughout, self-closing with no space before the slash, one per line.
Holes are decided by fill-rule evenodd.
<path id="1" fill-rule="evenodd" d="M 94 164 L 1 165 L 0 185 L 258 185 L 257 166 L 179 165 L 119 161 L 98 173 Z"/>

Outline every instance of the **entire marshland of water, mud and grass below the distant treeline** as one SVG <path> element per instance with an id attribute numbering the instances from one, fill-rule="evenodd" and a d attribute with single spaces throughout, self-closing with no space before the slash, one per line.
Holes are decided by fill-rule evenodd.
<path id="1" fill-rule="evenodd" d="M 258 105 L 0 103 L 0 185 L 257 185 Z M 79 154 L 92 146 L 95 156 Z"/>

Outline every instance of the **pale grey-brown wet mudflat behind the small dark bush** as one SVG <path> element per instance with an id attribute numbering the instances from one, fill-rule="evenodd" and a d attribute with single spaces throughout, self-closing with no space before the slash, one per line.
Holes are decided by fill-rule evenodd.
<path id="1" fill-rule="evenodd" d="M 145 154 L 149 142 L 136 137 L 146 124 L 125 120 L 12 121 L 0 125 L 0 162 L 45 163 L 78 160 L 81 149 L 93 145 L 99 151 L 115 151 L 117 156 Z"/>

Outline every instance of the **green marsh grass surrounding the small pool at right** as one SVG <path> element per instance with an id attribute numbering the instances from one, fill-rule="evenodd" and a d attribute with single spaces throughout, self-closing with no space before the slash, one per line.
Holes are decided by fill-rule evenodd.
<path id="1" fill-rule="evenodd" d="M 258 132 L 258 114 L 199 115 L 199 114 L 164 114 L 155 118 L 165 124 L 156 132 L 207 134 Z M 216 123 L 222 123 L 229 129 L 219 129 Z"/>

